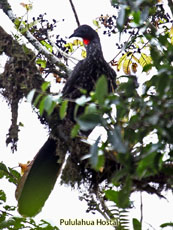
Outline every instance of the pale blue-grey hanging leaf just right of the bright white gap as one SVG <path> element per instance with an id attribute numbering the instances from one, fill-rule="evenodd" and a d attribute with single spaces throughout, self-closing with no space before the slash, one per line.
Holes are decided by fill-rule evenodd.
<path id="1" fill-rule="evenodd" d="M 113 130 L 108 130 L 108 140 L 112 144 L 115 151 L 118 153 L 126 153 L 127 149 L 122 141 L 119 127 L 114 127 Z"/>

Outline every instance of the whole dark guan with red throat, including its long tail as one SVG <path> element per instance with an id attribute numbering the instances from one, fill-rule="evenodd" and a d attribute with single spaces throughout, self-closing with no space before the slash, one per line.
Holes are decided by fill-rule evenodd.
<path id="1" fill-rule="evenodd" d="M 114 92 L 116 73 L 103 57 L 97 32 L 88 25 L 82 25 L 74 31 L 71 37 L 83 39 L 87 57 L 78 62 L 67 79 L 62 91 L 63 97 L 76 99 L 81 96 L 81 88 L 89 94 L 94 90 L 95 83 L 102 74 L 107 77 L 109 92 Z M 74 106 L 74 103 L 69 104 L 67 117 L 70 119 L 73 119 Z M 55 139 L 48 138 L 19 182 L 16 198 L 21 215 L 36 215 L 54 187 L 63 164 L 57 154 L 57 140 Z"/>

